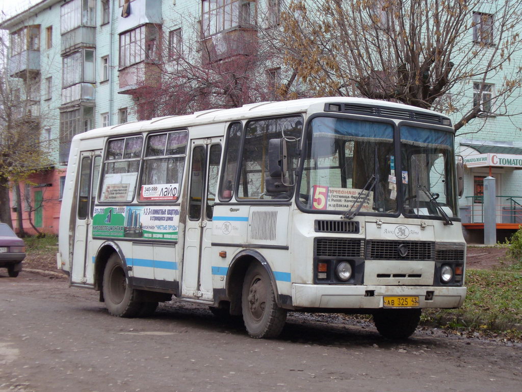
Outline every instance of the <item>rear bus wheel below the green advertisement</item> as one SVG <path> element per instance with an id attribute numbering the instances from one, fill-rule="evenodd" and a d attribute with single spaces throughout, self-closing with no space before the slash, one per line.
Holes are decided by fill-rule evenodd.
<path id="1" fill-rule="evenodd" d="M 112 253 L 103 271 L 103 298 L 109 313 L 116 317 L 136 317 L 143 303 L 136 301 L 136 290 L 127 284 L 123 262 Z"/>

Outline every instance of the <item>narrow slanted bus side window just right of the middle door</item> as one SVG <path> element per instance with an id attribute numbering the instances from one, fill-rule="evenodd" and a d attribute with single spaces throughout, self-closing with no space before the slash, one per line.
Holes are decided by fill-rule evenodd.
<path id="1" fill-rule="evenodd" d="M 223 163 L 223 175 L 219 187 L 219 199 L 229 201 L 232 199 L 236 171 L 238 169 L 239 147 L 241 146 L 241 123 L 230 124 L 226 146 L 225 160 Z"/>

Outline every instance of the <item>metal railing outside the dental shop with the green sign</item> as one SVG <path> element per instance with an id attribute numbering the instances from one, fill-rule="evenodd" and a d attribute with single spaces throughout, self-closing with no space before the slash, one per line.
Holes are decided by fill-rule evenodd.
<path id="1" fill-rule="evenodd" d="M 461 213 L 462 222 L 484 223 L 483 196 L 466 196 L 468 201 L 465 212 Z M 461 207 L 462 210 L 462 207 Z M 497 223 L 522 224 L 522 196 L 500 195 L 495 197 Z"/>

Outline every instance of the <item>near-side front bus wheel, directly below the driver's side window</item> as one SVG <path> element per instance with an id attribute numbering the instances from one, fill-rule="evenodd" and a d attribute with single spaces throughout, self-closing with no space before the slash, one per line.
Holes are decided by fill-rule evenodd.
<path id="1" fill-rule="evenodd" d="M 270 276 L 259 263 L 252 264 L 246 271 L 241 306 L 248 335 L 255 339 L 279 336 L 287 319 L 287 311 L 277 306 Z"/>

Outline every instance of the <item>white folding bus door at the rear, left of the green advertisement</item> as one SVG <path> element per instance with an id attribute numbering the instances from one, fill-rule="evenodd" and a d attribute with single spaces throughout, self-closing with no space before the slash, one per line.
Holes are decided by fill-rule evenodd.
<path id="1" fill-rule="evenodd" d="M 100 175 L 101 151 L 84 151 L 80 153 L 77 172 L 77 188 L 75 197 L 76 211 L 73 270 L 71 282 L 76 285 L 93 285 L 92 261 L 89 262 L 89 245 L 92 242 L 92 213 L 96 201 L 98 177 Z M 89 279 L 90 277 L 90 279 Z"/>

